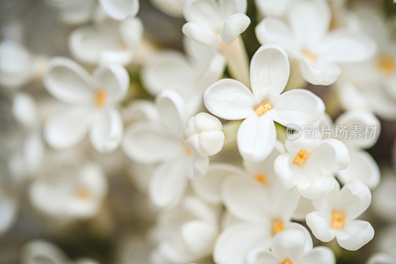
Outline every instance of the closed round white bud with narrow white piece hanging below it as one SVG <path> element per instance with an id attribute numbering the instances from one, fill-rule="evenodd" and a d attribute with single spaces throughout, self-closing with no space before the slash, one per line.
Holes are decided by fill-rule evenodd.
<path id="1" fill-rule="evenodd" d="M 186 146 L 197 158 L 194 163 L 194 178 L 202 177 L 209 166 L 209 156 L 221 151 L 224 144 L 224 132 L 219 119 L 208 113 L 200 112 L 187 120 L 183 137 Z"/>

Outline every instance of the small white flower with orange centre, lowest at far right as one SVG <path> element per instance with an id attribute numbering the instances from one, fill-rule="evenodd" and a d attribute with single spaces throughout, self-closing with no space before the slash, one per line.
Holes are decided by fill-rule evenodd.
<path id="1" fill-rule="evenodd" d="M 371 193 L 358 180 L 349 181 L 341 190 L 336 185 L 323 198 L 313 200 L 317 211 L 306 215 L 305 220 L 313 235 L 323 242 L 335 237 L 347 250 L 358 250 L 374 237 L 371 224 L 355 220 L 369 207 Z"/>

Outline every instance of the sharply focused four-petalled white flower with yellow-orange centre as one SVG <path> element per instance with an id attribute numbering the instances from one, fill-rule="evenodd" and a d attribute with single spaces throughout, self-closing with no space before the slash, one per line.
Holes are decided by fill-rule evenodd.
<path id="1" fill-rule="evenodd" d="M 238 129 L 237 143 L 243 158 L 259 161 L 276 142 L 276 121 L 281 125 L 315 122 L 324 112 L 323 101 L 304 89 L 283 94 L 290 74 L 289 60 L 278 45 L 267 44 L 250 62 L 253 93 L 242 83 L 222 79 L 204 94 L 206 108 L 223 119 L 245 119 Z"/>

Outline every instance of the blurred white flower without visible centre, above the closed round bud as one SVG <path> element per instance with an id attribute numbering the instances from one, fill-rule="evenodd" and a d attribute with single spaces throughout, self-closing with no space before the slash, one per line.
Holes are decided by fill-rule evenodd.
<path id="1" fill-rule="evenodd" d="M 225 58 L 213 47 L 202 46 L 189 38 L 184 38 L 183 43 L 187 55 L 162 51 L 149 57 L 142 79 L 152 95 L 166 90 L 179 92 L 193 114 L 202 104 L 205 89 L 222 76 Z"/>

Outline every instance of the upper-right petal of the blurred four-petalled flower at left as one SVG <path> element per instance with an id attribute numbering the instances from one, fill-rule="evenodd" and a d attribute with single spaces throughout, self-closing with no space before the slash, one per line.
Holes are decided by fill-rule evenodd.
<path id="1" fill-rule="evenodd" d="M 99 89 L 105 89 L 108 100 L 116 103 L 122 100 L 129 89 L 129 74 L 120 64 L 101 65 L 94 71 Z"/>

